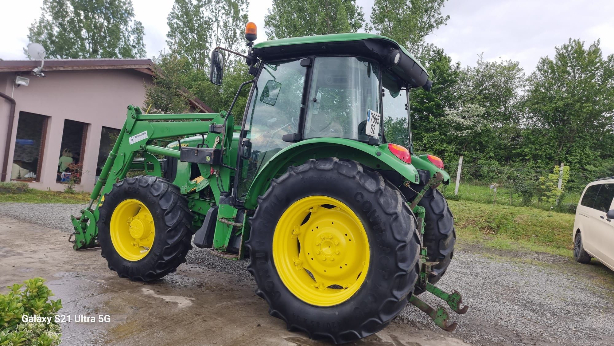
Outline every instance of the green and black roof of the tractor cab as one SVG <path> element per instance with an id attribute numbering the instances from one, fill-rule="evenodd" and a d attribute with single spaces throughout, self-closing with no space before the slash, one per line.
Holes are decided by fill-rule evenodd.
<path id="1" fill-rule="evenodd" d="M 401 52 L 401 60 L 391 70 L 411 87 L 426 84 L 429 75 L 405 47 L 393 39 L 366 33 L 346 33 L 274 39 L 254 45 L 254 53 L 263 60 L 279 60 L 305 55 L 335 54 L 384 60 L 391 49 Z"/>

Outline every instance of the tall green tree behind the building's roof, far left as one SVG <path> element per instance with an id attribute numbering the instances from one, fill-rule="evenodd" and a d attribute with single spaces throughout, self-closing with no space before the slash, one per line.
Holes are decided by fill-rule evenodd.
<path id="1" fill-rule="evenodd" d="M 42 44 L 48 58 L 146 56 L 130 0 L 44 0 L 41 9 L 28 39 Z"/>

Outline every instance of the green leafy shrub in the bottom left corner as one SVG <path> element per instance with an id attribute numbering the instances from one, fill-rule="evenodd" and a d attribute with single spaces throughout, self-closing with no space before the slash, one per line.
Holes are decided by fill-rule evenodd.
<path id="1" fill-rule="evenodd" d="M 53 346 L 60 344 L 61 328 L 55 316 L 62 308 L 60 299 L 52 301 L 44 279 L 33 278 L 24 285 L 9 286 L 9 293 L 0 294 L 0 345 Z M 23 322 L 23 315 L 50 318 L 50 323 Z"/>

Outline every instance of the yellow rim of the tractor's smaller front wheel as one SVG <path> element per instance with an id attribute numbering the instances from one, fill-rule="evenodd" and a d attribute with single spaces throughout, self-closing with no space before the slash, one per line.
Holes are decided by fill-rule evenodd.
<path id="1" fill-rule="evenodd" d="M 111 242 L 128 261 L 138 261 L 149 253 L 155 236 L 152 213 L 141 201 L 123 200 L 111 215 Z"/>

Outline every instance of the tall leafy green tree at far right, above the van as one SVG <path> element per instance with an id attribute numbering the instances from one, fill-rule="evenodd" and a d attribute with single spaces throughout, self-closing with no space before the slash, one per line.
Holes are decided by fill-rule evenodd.
<path id="1" fill-rule="evenodd" d="M 529 77 L 524 154 L 543 165 L 575 168 L 614 157 L 614 55 L 603 57 L 599 41 L 572 40 L 540 58 Z"/>

